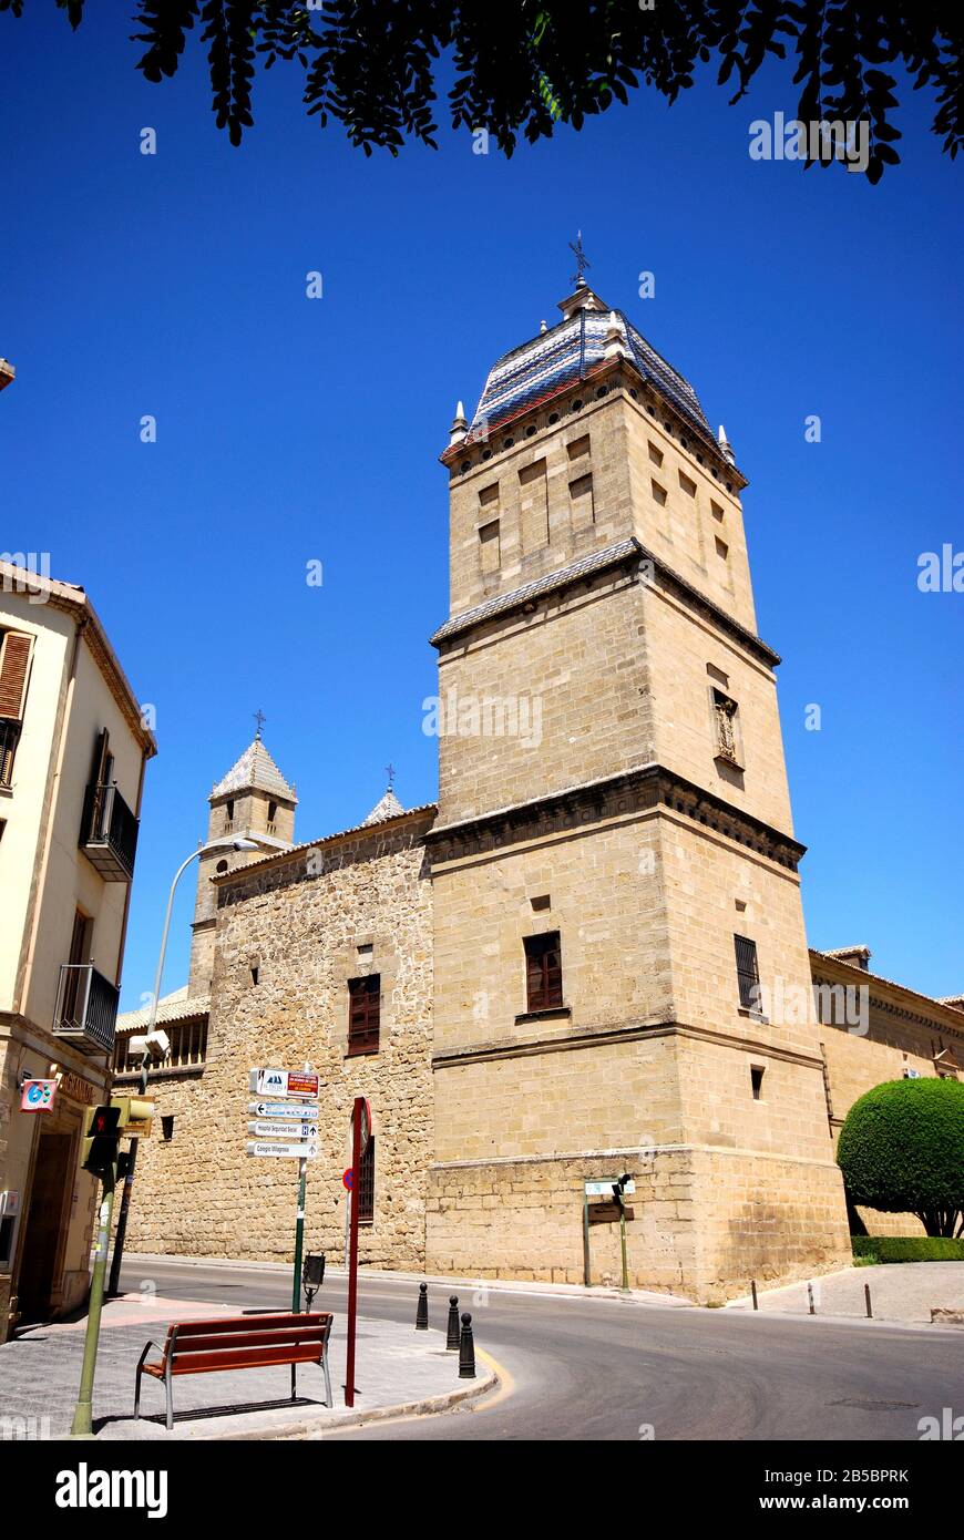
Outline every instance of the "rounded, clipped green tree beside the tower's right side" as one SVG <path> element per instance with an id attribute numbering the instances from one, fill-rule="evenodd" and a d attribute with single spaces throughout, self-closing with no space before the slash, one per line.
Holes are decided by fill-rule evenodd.
<path id="1" fill-rule="evenodd" d="M 964 1210 L 964 1084 L 875 1086 L 847 1113 L 836 1158 L 850 1203 L 916 1214 L 929 1235 L 955 1235 Z"/>

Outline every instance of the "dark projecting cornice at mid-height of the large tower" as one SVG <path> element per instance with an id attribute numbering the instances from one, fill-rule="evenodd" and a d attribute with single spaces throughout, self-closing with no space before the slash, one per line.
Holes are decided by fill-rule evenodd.
<path id="1" fill-rule="evenodd" d="M 805 845 L 759 818 L 704 792 L 665 765 L 648 764 L 588 785 L 568 787 L 514 807 L 431 829 L 425 836 L 430 862 L 485 855 L 504 845 L 588 827 L 605 818 L 665 807 L 696 824 L 796 872 Z"/>

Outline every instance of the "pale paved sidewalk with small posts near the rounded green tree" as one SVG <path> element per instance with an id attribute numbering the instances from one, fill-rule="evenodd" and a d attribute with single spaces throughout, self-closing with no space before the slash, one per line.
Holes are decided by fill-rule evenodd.
<path id="1" fill-rule="evenodd" d="M 864 1284 L 870 1287 L 875 1321 L 930 1324 L 932 1309 L 964 1311 L 964 1263 L 913 1261 L 878 1263 L 872 1267 L 847 1267 L 812 1280 L 818 1315 L 867 1315 Z M 758 1286 L 761 1312 L 808 1315 L 807 1283 L 788 1283 L 781 1289 Z M 751 1311 L 753 1300 L 731 1300 L 725 1309 Z"/>

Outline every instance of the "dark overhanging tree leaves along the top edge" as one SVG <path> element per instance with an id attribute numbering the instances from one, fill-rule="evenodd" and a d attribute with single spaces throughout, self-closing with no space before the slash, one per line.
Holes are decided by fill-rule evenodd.
<path id="1" fill-rule="evenodd" d="M 20 15 L 23 5 L 0 0 L 0 11 Z M 77 28 L 83 0 L 57 5 Z M 434 145 L 442 54 L 456 69 L 453 128 L 487 129 L 507 156 L 519 134 L 536 140 L 557 122 L 577 129 L 641 83 L 674 102 L 698 68 L 711 68 L 739 102 L 767 59 L 788 59 L 798 119 L 865 119 L 867 179 L 878 182 L 899 160 L 895 68 L 913 89 L 932 88 L 933 132 L 956 156 L 962 14 L 959 0 L 659 0 L 651 9 L 639 0 L 328 0 L 317 11 L 291 0 L 137 0 L 134 40 L 154 82 L 177 71 L 188 34 L 206 46 L 217 126 L 234 145 L 253 123 L 257 55 L 266 69 L 297 62 L 308 112 L 337 119 L 365 154 L 397 154 L 405 136 Z"/>

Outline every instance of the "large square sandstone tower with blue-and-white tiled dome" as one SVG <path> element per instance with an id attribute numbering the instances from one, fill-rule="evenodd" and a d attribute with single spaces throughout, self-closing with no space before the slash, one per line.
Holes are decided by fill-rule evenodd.
<path id="1" fill-rule="evenodd" d="M 713 1298 L 849 1257 L 779 659 L 722 428 L 584 280 L 559 310 L 442 456 L 427 1266 L 618 1277 L 584 1184 L 625 1172 L 630 1281 Z"/>

